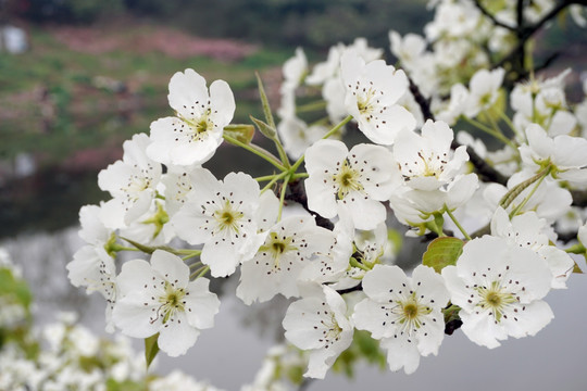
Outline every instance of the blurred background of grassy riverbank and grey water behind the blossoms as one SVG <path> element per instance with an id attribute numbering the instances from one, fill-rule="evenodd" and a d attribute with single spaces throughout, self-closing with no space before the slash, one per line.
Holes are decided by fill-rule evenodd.
<path id="1" fill-rule="evenodd" d="M 426 2 L 0 0 L 0 247 L 33 285 L 41 321 L 74 310 L 103 332 L 101 299 L 66 279 L 65 264 L 80 245 L 77 213 L 107 199 L 97 174 L 122 156 L 122 142 L 172 113 L 166 94 L 175 72 L 191 67 L 209 83 L 228 81 L 237 101 L 234 122 L 248 123 L 249 114 L 260 116 L 255 71 L 276 108 L 282 65 L 296 47 L 314 63 L 325 60 L 329 46 L 355 37 L 389 52 L 389 29 L 422 34 L 432 18 Z M 553 68 L 585 70 L 586 42 L 585 30 L 560 21 L 540 37 L 538 56 L 564 46 Z M 249 155 L 234 152 L 241 167 Z M 209 168 L 217 175 L 237 167 L 228 159 L 213 163 Z M 226 390 L 252 381 L 280 333 L 287 304 L 275 300 L 249 310 L 235 299 L 236 282 L 222 288 L 227 294 L 217 326 L 202 332 L 186 357 L 160 357 L 161 371 L 179 366 Z M 410 377 L 364 366 L 353 382 L 330 374 L 309 389 L 585 390 L 587 304 L 580 297 L 587 288 L 582 277 L 569 285 L 551 294 L 557 318 L 536 338 L 488 351 L 458 331 L 439 357 L 424 358 Z"/>

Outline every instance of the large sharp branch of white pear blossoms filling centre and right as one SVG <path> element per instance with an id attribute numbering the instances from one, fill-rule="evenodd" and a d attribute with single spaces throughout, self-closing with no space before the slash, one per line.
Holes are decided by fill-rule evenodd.
<path id="1" fill-rule="evenodd" d="M 70 279 L 104 297 L 109 330 L 182 355 L 220 311 L 205 276 L 237 272 L 246 304 L 294 300 L 285 338 L 307 352 L 312 378 L 358 330 L 391 370 L 410 374 L 452 327 L 491 349 L 553 318 L 544 299 L 576 269 L 570 253 L 585 252 L 583 215 L 577 245 L 557 240 L 569 214 L 583 214 L 572 204 L 587 189 L 587 81 L 572 104 L 571 71 L 512 80 L 491 68 L 513 48 L 514 1 L 490 11 L 483 1 L 434 3 L 425 38 L 390 33 L 401 67 L 364 39 L 333 47 L 312 68 L 298 49 L 283 67 L 277 124 L 260 83 L 265 118 L 253 122 L 277 156 L 253 143 L 251 125 L 232 124 L 225 81 L 208 88 L 193 70 L 173 75 L 174 115 L 124 142 L 123 159 L 98 177 L 111 199 L 79 213 L 86 245 Z M 539 21 L 544 3 L 523 20 Z M 317 100 L 300 110 L 301 99 Z M 308 124 L 301 114 L 312 110 L 325 119 Z M 502 146 L 454 134 L 465 125 Z M 344 141 L 345 130 L 361 141 Z M 202 164 L 224 141 L 265 160 L 270 174 L 216 178 Z M 394 263 L 392 220 L 407 237 L 434 239 L 413 269 Z M 148 260 L 122 262 L 127 251 Z"/>

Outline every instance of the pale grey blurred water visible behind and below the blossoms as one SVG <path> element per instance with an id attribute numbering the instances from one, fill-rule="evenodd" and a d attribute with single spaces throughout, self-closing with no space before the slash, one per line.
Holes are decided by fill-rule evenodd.
<path id="1" fill-rule="evenodd" d="M 97 294 L 87 297 L 66 278 L 65 265 L 80 244 L 76 227 L 54 234 L 20 235 L 0 242 L 32 285 L 41 321 L 52 320 L 58 311 L 73 310 L 86 326 L 104 333 L 102 299 Z M 268 305 L 248 307 L 235 297 L 236 285 L 237 278 L 232 277 L 222 287 L 215 327 L 203 330 L 185 356 L 171 358 L 161 354 L 157 371 L 182 368 L 227 391 L 252 382 L 266 350 L 282 332 L 280 319 L 287 302 L 274 300 Z M 502 346 L 488 350 L 457 331 L 445 339 L 439 355 L 424 357 L 413 375 L 361 365 L 353 380 L 329 373 L 324 381 L 312 382 L 308 390 L 587 390 L 584 298 L 586 277 L 574 275 L 567 290 L 548 295 L 555 318 L 536 337 L 508 340 Z M 141 341 L 137 340 L 136 346 L 141 349 Z"/>

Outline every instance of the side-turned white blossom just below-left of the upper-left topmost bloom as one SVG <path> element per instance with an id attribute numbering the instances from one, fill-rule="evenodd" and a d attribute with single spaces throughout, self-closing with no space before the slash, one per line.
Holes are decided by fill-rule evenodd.
<path id="1" fill-rule="evenodd" d="M 105 227 L 122 228 L 151 206 L 161 178 L 161 164 L 147 156 L 145 151 L 149 143 L 145 134 L 133 136 L 123 143 L 123 160 L 98 174 L 98 186 L 112 195 L 112 200 L 101 206 L 100 218 Z"/>

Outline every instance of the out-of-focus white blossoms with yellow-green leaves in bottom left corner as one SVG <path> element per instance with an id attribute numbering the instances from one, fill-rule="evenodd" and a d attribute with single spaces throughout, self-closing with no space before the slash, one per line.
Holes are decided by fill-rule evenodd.
<path id="1" fill-rule="evenodd" d="M 30 290 L 2 248 L 0 276 L 0 390 L 215 390 L 178 370 L 163 377 L 148 375 L 145 357 L 130 339 L 100 338 L 79 325 L 73 313 L 35 325 Z"/>

